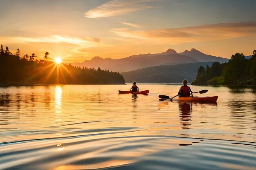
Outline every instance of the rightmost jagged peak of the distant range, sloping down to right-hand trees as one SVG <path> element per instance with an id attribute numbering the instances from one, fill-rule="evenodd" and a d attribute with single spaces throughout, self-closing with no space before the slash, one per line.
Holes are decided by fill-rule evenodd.
<path id="1" fill-rule="evenodd" d="M 181 55 L 186 55 L 189 57 L 194 58 L 195 60 L 198 60 L 199 62 L 220 62 L 220 63 L 224 63 L 224 62 L 228 62 L 229 59 L 227 58 L 222 58 L 222 57 L 216 57 L 213 55 L 207 55 L 204 54 L 196 49 L 191 49 L 190 51 L 185 50 L 182 53 L 179 53 Z"/>

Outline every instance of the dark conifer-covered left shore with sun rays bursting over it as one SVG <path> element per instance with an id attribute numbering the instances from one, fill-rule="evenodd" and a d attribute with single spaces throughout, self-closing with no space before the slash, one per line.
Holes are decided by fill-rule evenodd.
<path id="1" fill-rule="evenodd" d="M 67 64 L 56 64 L 44 60 L 35 60 L 36 55 L 20 57 L 20 50 L 12 54 L 8 47 L 0 48 L 0 85 L 29 84 L 124 84 L 124 77 L 117 73 L 100 68 L 77 67 Z"/>

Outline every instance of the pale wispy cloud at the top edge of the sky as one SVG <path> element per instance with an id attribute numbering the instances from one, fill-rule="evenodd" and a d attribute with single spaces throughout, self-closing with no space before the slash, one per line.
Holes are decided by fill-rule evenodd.
<path id="1" fill-rule="evenodd" d="M 124 13 L 151 8 L 148 2 L 153 0 L 111 0 L 94 9 L 87 11 L 84 15 L 88 18 L 111 17 Z"/>

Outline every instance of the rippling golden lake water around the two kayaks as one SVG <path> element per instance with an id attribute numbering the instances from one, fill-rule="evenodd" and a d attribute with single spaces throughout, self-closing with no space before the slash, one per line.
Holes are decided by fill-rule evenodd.
<path id="1" fill-rule="evenodd" d="M 137 85 L 0 87 L 0 170 L 256 169 L 256 88 L 191 86 L 219 96 L 191 104 Z"/>

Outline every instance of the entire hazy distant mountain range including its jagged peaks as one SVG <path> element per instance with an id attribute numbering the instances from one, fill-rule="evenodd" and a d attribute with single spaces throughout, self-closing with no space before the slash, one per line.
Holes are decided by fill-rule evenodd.
<path id="1" fill-rule="evenodd" d="M 174 49 L 168 49 L 163 53 L 132 55 L 121 59 L 93 57 L 84 62 L 71 63 L 73 66 L 98 68 L 103 70 L 127 72 L 152 66 L 176 65 L 196 62 L 228 62 L 229 59 L 204 54 L 196 49 L 185 50 L 177 53 Z"/>

